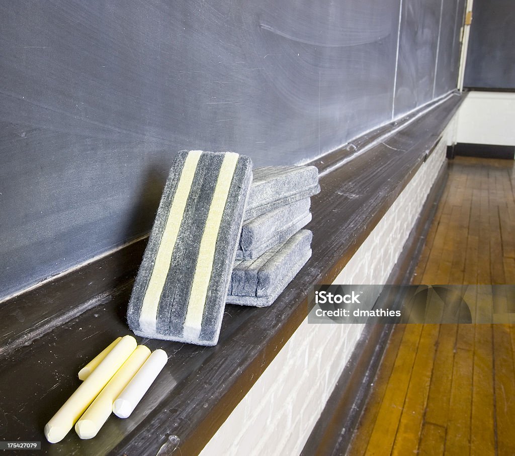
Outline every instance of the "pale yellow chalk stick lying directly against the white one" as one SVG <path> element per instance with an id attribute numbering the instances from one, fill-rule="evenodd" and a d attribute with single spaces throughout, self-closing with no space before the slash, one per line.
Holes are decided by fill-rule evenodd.
<path id="1" fill-rule="evenodd" d="M 145 345 L 138 345 L 129 359 L 125 361 L 109 380 L 106 387 L 88 407 L 75 425 L 75 431 L 81 439 L 92 439 L 109 418 L 113 411 L 113 402 L 138 372 L 150 356 Z"/>

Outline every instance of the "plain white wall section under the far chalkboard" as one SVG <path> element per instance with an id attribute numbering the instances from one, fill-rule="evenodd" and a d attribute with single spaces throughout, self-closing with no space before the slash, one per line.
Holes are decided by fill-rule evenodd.
<path id="1" fill-rule="evenodd" d="M 515 146 L 515 93 L 469 92 L 458 111 L 456 142 Z"/>

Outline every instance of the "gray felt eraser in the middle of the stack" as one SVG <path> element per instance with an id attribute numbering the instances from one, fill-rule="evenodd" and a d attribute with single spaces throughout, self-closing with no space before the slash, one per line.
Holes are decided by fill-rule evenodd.
<path id="1" fill-rule="evenodd" d="M 253 259 L 289 239 L 311 220 L 310 198 L 295 201 L 246 221 L 236 259 Z"/>

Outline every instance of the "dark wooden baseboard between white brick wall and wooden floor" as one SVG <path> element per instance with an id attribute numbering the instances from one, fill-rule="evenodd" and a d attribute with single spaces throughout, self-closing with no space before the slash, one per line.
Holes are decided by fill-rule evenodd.
<path id="1" fill-rule="evenodd" d="M 388 284 L 409 284 L 449 176 L 447 164 L 440 169 L 415 226 L 397 260 Z M 393 325 L 367 325 L 336 382 L 301 456 L 344 455 L 369 396 Z"/>

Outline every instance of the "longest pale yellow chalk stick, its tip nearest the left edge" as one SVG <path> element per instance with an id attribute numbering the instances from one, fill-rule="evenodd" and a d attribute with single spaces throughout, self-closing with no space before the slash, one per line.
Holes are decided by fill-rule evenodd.
<path id="1" fill-rule="evenodd" d="M 110 353 L 98 364 L 97 368 L 85 379 L 79 388 L 64 402 L 57 413 L 45 426 L 45 437 L 50 443 L 60 442 L 70 432 L 98 393 L 106 386 L 111 377 L 127 360 L 136 348 L 136 339 L 125 336 Z"/>

